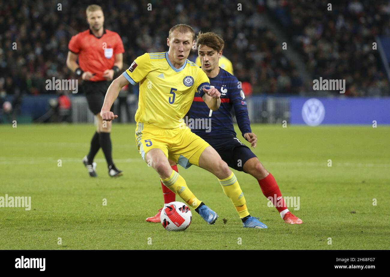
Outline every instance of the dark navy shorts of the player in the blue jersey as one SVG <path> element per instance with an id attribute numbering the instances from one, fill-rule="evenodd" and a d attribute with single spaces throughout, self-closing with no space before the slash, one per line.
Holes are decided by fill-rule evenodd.
<path id="1" fill-rule="evenodd" d="M 221 156 L 229 167 L 244 171 L 246 161 L 256 157 L 248 146 L 242 144 L 236 137 L 218 137 L 218 139 L 204 138 Z"/>

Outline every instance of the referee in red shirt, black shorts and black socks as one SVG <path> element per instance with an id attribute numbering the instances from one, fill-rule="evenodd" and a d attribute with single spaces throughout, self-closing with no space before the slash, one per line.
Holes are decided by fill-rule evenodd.
<path id="1" fill-rule="evenodd" d="M 66 60 L 67 67 L 77 76 L 81 76 L 82 90 L 87 97 L 89 109 L 97 118 L 96 133 L 92 137 L 89 154 L 83 158 L 83 163 L 89 175 L 96 177 L 96 163 L 93 160 L 101 147 L 107 161 L 108 174 L 111 177 L 121 176 L 122 171 L 118 170 L 112 161 L 110 138 L 112 122 L 103 122 L 100 110 L 113 76 L 122 69 L 123 43 L 117 33 L 103 28 L 104 15 L 100 6 L 87 7 L 87 21 L 89 29 L 78 33 L 69 41 Z"/>

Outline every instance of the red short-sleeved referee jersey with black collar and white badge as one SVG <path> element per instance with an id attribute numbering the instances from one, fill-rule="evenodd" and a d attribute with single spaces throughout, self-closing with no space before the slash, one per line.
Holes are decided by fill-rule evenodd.
<path id="1" fill-rule="evenodd" d="M 78 55 L 78 64 L 82 71 L 95 75 L 90 81 L 104 81 L 103 72 L 114 66 L 115 54 L 124 52 L 121 37 L 104 29 L 103 36 L 96 37 L 90 29 L 78 33 L 69 41 L 69 51 Z"/>

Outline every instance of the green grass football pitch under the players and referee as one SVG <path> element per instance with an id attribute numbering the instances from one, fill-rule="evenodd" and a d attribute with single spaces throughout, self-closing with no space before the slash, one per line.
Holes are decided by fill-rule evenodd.
<path id="1" fill-rule="evenodd" d="M 303 224 L 285 224 L 257 181 L 234 171 L 251 215 L 268 226 L 243 229 L 217 179 L 192 166 L 179 173 L 220 218 L 207 225 L 192 210 L 183 232 L 145 222 L 163 196 L 158 175 L 138 154 L 134 130 L 113 126 L 113 158 L 124 176 L 108 176 L 100 150 L 92 179 L 82 158 L 94 126 L 1 125 L 0 196 L 31 196 L 31 210 L 0 208 L 0 249 L 390 249 L 389 126 L 252 124 L 255 154 L 284 196 L 300 197 L 300 209 L 290 210 Z"/>

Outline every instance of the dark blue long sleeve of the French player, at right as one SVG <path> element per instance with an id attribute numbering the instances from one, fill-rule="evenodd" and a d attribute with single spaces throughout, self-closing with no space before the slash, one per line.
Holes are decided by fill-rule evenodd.
<path id="1" fill-rule="evenodd" d="M 244 91 L 238 88 L 237 78 L 235 78 L 235 80 L 235 85 L 233 84 L 230 88 L 230 102 L 232 103 L 234 113 L 236 114 L 238 128 L 241 131 L 241 135 L 244 137 L 245 133 L 252 133 L 252 130 L 250 128 L 248 108 L 246 105 Z"/>

